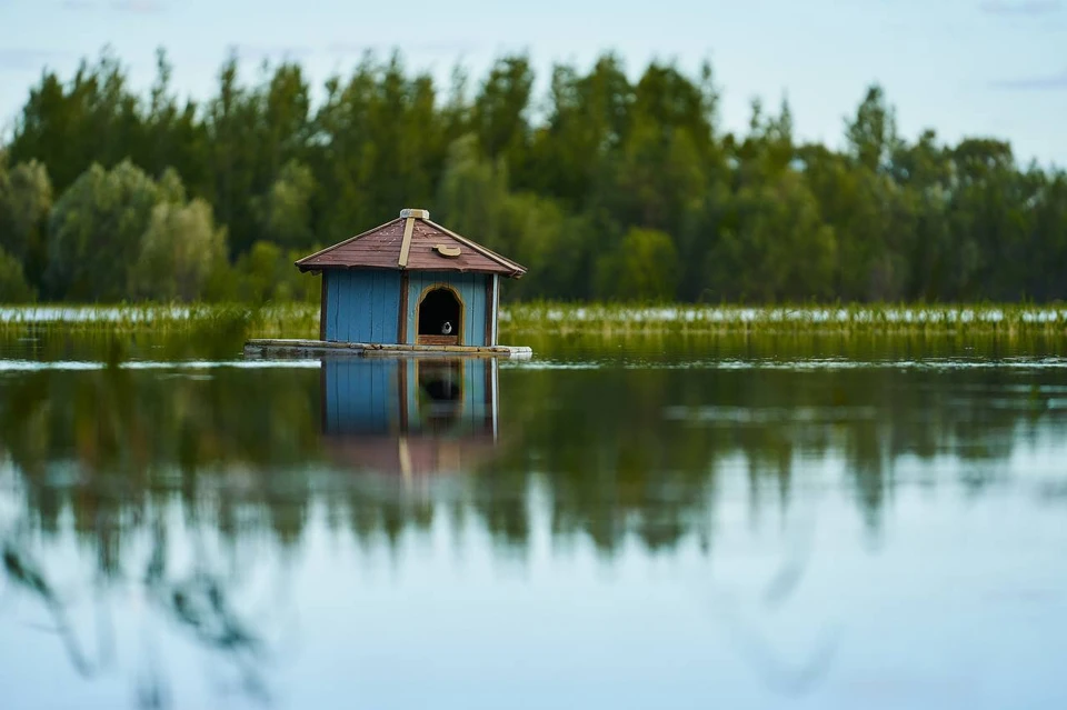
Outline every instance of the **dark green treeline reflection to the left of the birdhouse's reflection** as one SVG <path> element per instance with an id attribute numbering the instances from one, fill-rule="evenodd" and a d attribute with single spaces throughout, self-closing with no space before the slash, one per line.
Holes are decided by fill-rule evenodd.
<path id="1" fill-rule="evenodd" d="M 190 522 L 236 534 L 255 506 L 283 543 L 299 538 L 309 492 L 298 474 L 318 440 L 313 372 L 203 378 L 124 369 L 36 372 L 4 387 L 0 446 L 46 532 L 64 508 L 100 543 L 107 570 L 123 529 L 159 497 L 178 494 Z M 278 384 L 275 388 L 275 384 Z M 262 520 L 257 520 L 259 524 Z"/>

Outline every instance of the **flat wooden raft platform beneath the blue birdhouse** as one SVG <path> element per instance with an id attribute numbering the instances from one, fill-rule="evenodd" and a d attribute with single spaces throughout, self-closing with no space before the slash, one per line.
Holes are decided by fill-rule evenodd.
<path id="1" fill-rule="evenodd" d="M 534 351 L 526 346 L 403 346 L 392 343 L 335 342 L 330 340 L 300 340 L 258 338 L 245 343 L 247 357 L 303 358 L 321 356 L 356 357 L 476 357 L 528 360 Z"/>

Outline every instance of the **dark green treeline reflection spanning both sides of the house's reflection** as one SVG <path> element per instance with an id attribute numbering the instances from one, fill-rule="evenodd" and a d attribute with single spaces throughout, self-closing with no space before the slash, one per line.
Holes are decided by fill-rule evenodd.
<path id="1" fill-rule="evenodd" d="M 980 491 L 1017 441 L 1064 423 L 1040 397 L 1013 388 L 1017 377 L 506 370 L 499 456 L 446 510 L 396 480 L 356 484 L 329 461 L 313 370 L 28 373 L 3 386 L 0 446 L 34 524 L 53 533 L 70 510 L 104 573 L 120 567 L 123 538 L 153 503 L 174 496 L 191 526 L 229 539 L 266 527 L 281 546 L 299 544 L 318 501 L 330 524 L 360 538 L 396 540 L 438 513 L 469 510 L 502 542 L 523 546 L 530 483 L 540 480 L 556 534 L 587 534 L 605 551 L 631 534 L 658 549 L 690 533 L 709 542 L 716 501 L 738 467 L 758 517 L 809 483 L 797 480 L 811 476 L 801 462 L 839 460 L 872 531 L 905 457 L 926 476 L 936 474 L 924 461 L 951 457 L 961 482 Z M 327 476 L 321 493 L 309 470 Z"/>

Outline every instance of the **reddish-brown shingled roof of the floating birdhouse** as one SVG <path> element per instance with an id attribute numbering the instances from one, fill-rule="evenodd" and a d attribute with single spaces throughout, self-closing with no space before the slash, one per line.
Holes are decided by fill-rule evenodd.
<path id="1" fill-rule="evenodd" d="M 323 269 L 413 269 L 475 271 L 519 278 L 526 268 L 431 222 L 426 210 L 398 219 L 297 261 L 301 271 Z"/>

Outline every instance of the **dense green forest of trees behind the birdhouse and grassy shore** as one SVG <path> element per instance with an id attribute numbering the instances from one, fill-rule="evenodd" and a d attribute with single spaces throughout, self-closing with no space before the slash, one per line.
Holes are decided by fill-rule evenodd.
<path id="1" fill-rule="evenodd" d="M 0 147 L 0 301 L 315 298 L 293 259 L 425 207 L 529 268 L 515 299 L 1067 299 L 1067 174 L 1008 143 L 909 142 L 878 86 L 844 149 L 788 103 L 724 132 L 711 68 L 525 56 L 441 89 L 368 56 L 312 100 L 300 66 L 179 99 L 104 52 L 44 71 Z M 858 94 L 861 88 L 857 88 Z M 317 94 L 316 94 L 317 96 Z"/>

